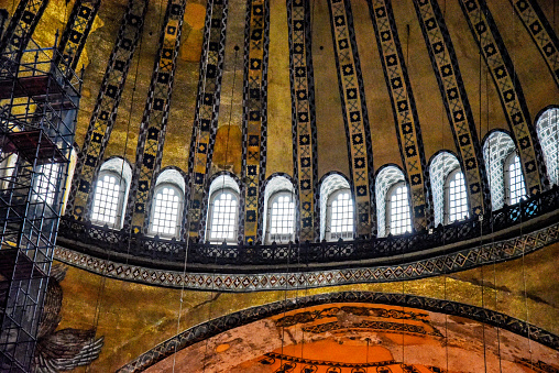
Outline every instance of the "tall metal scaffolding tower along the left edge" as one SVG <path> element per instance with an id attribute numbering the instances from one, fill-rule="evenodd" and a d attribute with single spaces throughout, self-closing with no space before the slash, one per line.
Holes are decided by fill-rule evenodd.
<path id="1" fill-rule="evenodd" d="M 32 370 L 81 78 L 56 45 L 0 54 L 0 371 Z"/>

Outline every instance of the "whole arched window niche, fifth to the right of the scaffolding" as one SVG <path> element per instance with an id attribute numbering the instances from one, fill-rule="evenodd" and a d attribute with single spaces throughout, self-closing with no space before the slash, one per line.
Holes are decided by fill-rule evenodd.
<path id="1" fill-rule="evenodd" d="M 320 239 L 352 239 L 354 202 L 349 182 L 340 174 L 330 174 L 320 183 Z"/>

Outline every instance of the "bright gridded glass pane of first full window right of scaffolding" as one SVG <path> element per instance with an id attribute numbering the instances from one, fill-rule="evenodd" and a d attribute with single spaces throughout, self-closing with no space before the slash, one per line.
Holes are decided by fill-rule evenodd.
<path id="1" fill-rule="evenodd" d="M 91 220 L 114 224 L 119 212 L 120 183 L 116 175 L 105 174 L 97 180 Z"/>

